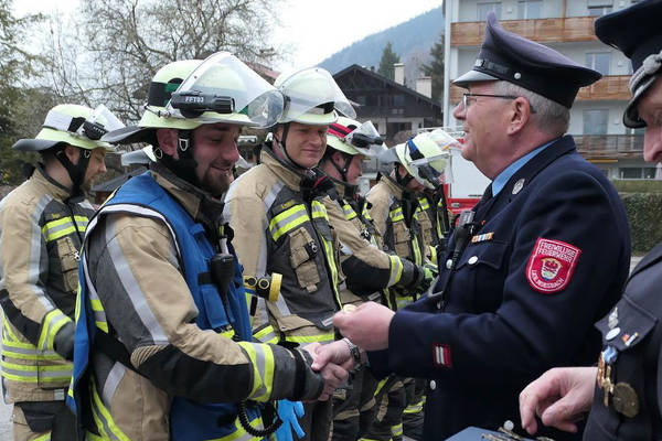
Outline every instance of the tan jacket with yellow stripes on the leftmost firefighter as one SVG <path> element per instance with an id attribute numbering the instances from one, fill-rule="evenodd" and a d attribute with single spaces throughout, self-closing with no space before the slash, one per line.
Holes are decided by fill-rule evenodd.
<path id="1" fill-rule="evenodd" d="M 73 334 L 78 249 L 94 213 L 40 165 L 0 203 L 2 379 L 8 402 L 64 400 L 72 365 L 54 351 Z"/>

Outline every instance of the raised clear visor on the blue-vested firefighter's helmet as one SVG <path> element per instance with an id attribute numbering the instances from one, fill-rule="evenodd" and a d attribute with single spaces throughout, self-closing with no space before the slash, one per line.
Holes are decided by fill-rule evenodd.
<path id="1" fill-rule="evenodd" d="M 166 108 L 173 118 L 264 128 L 276 122 L 282 104 L 282 95 L 250 67 L 217 52 L 182 82 Z"/>

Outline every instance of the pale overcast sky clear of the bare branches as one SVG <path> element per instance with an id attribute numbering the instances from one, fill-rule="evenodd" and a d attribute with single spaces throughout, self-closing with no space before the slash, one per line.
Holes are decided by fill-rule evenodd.
<path id="1" fill-rule="evenodd" d="M 281 0 L 280 26 L 274 45 L 287 45 L 291 57 L 273 66 L 276 71 L 308 67 L 375 32 L 437 8 L 441 0 Z M 14 0 L 21 17 L 35 12 L 71 12 L 78 0 Z"/>

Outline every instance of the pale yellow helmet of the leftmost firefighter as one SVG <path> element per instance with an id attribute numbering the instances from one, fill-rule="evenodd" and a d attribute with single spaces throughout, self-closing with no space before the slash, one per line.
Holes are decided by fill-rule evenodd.
<path id="1" fill-rule="evenodd" d="M 114 151 L 115 148 L 100 141 L 100 138 L 107 131 L 122 127 L 124 123 L 104 105 L 93 110 L 86 106 L 62 104 L 49 110 L 42 129 L 34 139 L 20 139 L 12 148 L 20 151 L 44 151 L 68 144 L 85 150 L 103 148 Z"/>

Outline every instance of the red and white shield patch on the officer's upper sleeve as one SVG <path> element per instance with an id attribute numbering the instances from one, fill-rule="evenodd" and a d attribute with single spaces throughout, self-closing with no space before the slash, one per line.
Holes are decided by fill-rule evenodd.
<path id="1" fill-rule="evenodd" d="M 563 290 L 577 265 L 581 250 L 560 240 L 538 237 L 526 266 L 528 284 L 544 294 Z"/>

